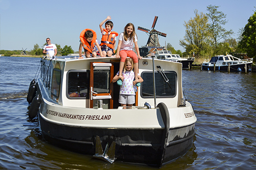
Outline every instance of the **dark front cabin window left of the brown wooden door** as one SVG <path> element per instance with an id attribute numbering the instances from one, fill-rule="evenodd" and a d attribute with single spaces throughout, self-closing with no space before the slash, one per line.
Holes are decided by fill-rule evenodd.
<path id="1" fill-rule="evenodd" d="M 71 70 L 67 74 L 67 97 L 89 99 L 89 71 Z"/>

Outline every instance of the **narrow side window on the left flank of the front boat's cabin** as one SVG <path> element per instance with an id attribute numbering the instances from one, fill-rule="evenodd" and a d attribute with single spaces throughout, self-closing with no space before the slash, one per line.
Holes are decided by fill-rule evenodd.
<path id="1" fill-rule="evenodd" d="M 51 94 L 55 96 L 55 98 L 57 99 L 59 98 L 60 78 L 61 78 L 61 70 L 58 68 L 54 68 L 53 74 L 52 74 Z"/>

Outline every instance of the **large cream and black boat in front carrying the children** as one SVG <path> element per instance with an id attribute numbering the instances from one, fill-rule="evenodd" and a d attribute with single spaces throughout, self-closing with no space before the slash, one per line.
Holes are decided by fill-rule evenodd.
<path id="1" fill-rule="evenodd" d="M 124 109 L 112 79 L 120 59 L 42 57 L 28 91 L 29 117 L 58 147 L 114 161 L 161 167 L 193 144 L 197 121 L 184 98 L 182 64 L 142 58 L 136 103 Z M 155 74 L 153 74 L 155 72 Z"/>

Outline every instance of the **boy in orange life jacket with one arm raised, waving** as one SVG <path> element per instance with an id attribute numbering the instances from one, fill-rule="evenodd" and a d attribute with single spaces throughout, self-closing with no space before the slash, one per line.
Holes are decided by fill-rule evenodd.
<path id="1" fill-rule="evenodd" d="M 111 19 L 111 16 L 108 16 L 99 24 L 100 32 L 102 34 L 100 46 L 101 46 L 101 51 L 104 57 L 106 55 L 111 57 L 112 55 L 115 54 L 114 49 L 116 46 L 116 37 L 118 36 L 118 33 L 111 31 L 113 29 L 114 24 L 110 19 Z M 104 22 L 105 22 L 105 28 L 102 27 Z"/>

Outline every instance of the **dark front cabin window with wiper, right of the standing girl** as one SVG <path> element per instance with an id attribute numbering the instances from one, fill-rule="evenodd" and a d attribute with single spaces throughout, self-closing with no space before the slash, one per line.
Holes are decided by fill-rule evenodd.
<path id="1" fill-rule="evenodd" d="M 165 82 L 160 72 L 155 72 L 155 83 L 156 83 L 156 98 L 174 98 L 176 96 L 176 81 L 177 74 L 174 71 L 164 71 L 164 74 L 169 79 L 169 85 Z M 154 98 L 153 89 L 153 72 L 144 71 L 141 74 L 142 79 L 142 98 Z"/>

